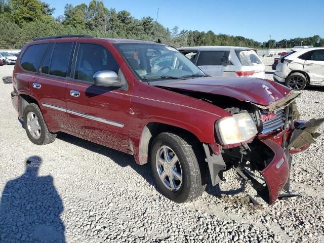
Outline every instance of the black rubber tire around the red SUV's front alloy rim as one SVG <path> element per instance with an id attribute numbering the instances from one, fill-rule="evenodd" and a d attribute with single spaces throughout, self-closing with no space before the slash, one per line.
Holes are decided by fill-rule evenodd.
<path id="1" fill-rule="evenodd" d="M 176 191 L 170 190 L 158 174 L 156 156 L 163 146 L 168 146 L 171 151 L 174 151 L 181 166 L 182 182 Z M 203 164 L 206 162 L 203 160 L 204 156 L 198 148 L 198 144 L 189 136 L 160 133 L 154 138 L 150 151 L 151 168 L 158 190 L 176 203 L 185 203 L 198 197 L 206 188 L 207 170 Z"/>

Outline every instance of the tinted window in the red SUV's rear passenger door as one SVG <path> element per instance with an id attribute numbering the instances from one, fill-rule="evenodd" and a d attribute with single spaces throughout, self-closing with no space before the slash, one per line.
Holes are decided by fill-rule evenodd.
<path id="1" fill-rule="evenodd" d="M 72 43 L 55 44 L 49 74 L 60 77 L 66 77 L 72 46 Z"/>

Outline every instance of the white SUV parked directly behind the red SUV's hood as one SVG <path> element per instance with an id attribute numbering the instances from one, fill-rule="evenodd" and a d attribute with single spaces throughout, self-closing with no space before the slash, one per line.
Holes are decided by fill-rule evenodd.
<path id="1" fill-rule="evenodd" d="M 206 74 L 265 78 L 265 66 L 256 49 L 247 47 L 185 47 L 178 49 Z"/>

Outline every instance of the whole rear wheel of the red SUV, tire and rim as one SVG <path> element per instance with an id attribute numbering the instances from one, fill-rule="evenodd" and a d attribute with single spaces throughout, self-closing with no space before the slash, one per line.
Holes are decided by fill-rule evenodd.
<path id="1" fill-rule="evenodd" d="M 56 134 L 48 130 L 41 109 L 34 103 L 24 109 L 24 126 L 29 140 L 34 144 L 45 145 L 56 138 Z"/>

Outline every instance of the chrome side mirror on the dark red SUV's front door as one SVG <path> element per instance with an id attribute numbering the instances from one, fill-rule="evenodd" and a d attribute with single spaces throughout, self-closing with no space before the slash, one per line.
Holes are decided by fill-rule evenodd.
<path id="1" fill-rule="evenodd" d="M 99 71 L 93 75 L 93 81 L 97 86 L 123 87 L 121 79 L 114 71 Z"/>

